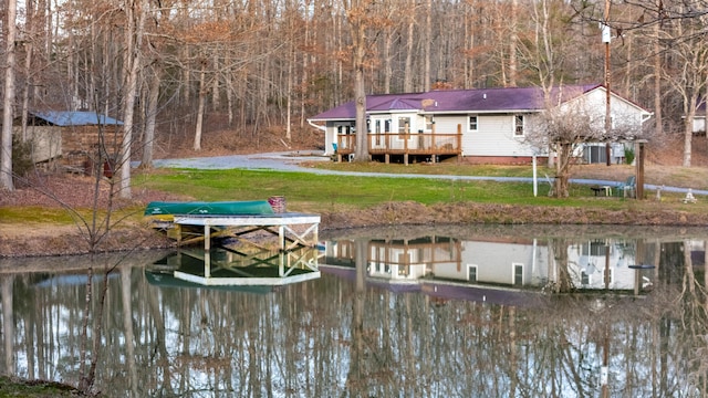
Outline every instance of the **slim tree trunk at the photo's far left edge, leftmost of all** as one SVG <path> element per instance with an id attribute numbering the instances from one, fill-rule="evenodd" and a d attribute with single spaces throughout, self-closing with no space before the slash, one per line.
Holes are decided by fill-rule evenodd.
<path id="1" fill-rule="evenodd" d="M 17 0 L 7 2 L 4 97 L 2 100 L 2 150 L 0 151 L 0 188 L 14 190 L 12 182 L 12 117 L 14 105 L 14 38 Z"/>

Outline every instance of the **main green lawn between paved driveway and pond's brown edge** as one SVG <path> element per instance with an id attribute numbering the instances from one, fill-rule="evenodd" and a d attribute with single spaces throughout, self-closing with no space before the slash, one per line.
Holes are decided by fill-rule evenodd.
<path id="1" fill-rule="evenodd" d="M 392 167 L 394 166 L 394 167 Z M 335 165 L 335 167 L 342 167 Z M 350 166 L 350 170 L 357 166 Z M 372 170 L 369 165 L 358 166 L 357 171 L 406 172 L 415 169 L 384 165 Z M 430 166 L 418 166 L 430 169 Z M 436 174 L 450 174 L 458 166 L 435 167 Z M 617 171 L 623 171 L 620 168 Z M 448 171 L 448 172 L 440 172 Z M 471 171 L 477 171 L 473 174 Z M 529 167 L 467 167 L 466 176 L 531 177 Z M 542 172 L 541 175 L 543 175 Z M 622 174 L 622 172 L 620 172 Z M 461 175 L 461 174 L 460 174 Z M 592 177 L 589 178 L 598 178 Z M 489 180 L 430 179 L 403 177 L 351 177 L 315 175 L 309 172 L 282 172 L 259 170 L 158 170 L 134 177 L 139 188 L 174 193 L 188 193 L 198 200 L 254 200 L 271 196 L 284 196 L 289 209 L 298 211 L 339 211 L 365 209 L 383 202 L 415 201 L 423 205 L 442 202 L 476 202 L 511 206 L 561 206 L 585 209 L 637 209 L 660 205 L 666 209 L 683 211 L 706 211 L 704 201 L 686 206 L 683 193 L 664 192 L 657 203 L 655 192 L 646 192 L 647 200 L 595 197 L 589 186 L 572 185 L 570 197 L 549 198 L 550 185 L 539 178 L 534 196 L 530 182 L 497 182 Z M 188 189 L 185 189 L 188 187 Z"/>

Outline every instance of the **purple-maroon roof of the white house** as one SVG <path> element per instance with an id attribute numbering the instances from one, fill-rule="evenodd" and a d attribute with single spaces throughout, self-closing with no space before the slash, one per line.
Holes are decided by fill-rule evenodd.
<path id="1" fill-rule="evenodd" d="M 566 102 L 595 88 L 600 84 L 568 85 L 555 87 L 552 98 Z M 392 113 L 399 111 L 423 111 L 430 114 L 442 113 L 502 113 L 502 112 L 539 112 L 545 108 L 541 87 L 500 87 L 476 90 L 445 90 L 410 94 L 375 94 L 366 96 L 368 114 Z M 348 102 L 325 111 L 311 121 L 354 119 L 355 102 Z"/>

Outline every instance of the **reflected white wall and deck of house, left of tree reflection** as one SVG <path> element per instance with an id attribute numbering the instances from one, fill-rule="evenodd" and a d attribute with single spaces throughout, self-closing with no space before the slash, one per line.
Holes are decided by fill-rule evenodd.
<path id="1" fill-rule="evenodd" d="M 355 266 L 355 242 L 329 242 L 324 262 Z M 405 283 L 423 277 L 499 286 L 539 285 L 548 279 L 548 249 L 534 240 L 459 240 L 448 237 L 373 239 L 366 274 Z"/>

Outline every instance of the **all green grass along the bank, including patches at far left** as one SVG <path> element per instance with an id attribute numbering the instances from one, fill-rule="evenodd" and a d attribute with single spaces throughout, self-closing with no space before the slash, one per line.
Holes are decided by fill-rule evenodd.
<path id="1" fill-rule="evenodd" d="M 464 166 L 439 165 L 382 165 L 382 164 L 333 164 L 316 163 L 311 167 L 341 169 L 361 172 L 386 172 L 406 175 L 454 175 L 531 177 L 528 166 Z M 623 181 L 634 172 L 631 166 L 583 166 L 575 169 L 573 178 L 592 178 Z M 496 182 L 489 180 L 431 179 L 403 177 L 350 177 L 317 175 L 310 172 L 284 172 L 268 170 L 195 170 L 157 169 L 139 171 L 133 176 L 133 192 L 157 190 L 184 200 L 256 200 L 271 196 L 284 196 L 288 209 L 306 212 L 339 212 L 368 209 L 387 202 L 417 202 L 425 206 L 439 203 L 496 203 L 501 206 L 564 207 L 583 210 L 647 210 L 683 211 L 705 213 L 708 201 L 698 197 L 695 205 L 684 205 L 683 193 L 664 192 L 662 201 L 654 191 L 646 191 L 646 200 L 595 197 L 589 186 L 571 185 L 570 197 L 549 198 L 550 185 L 544 175 L 552 170 L 540 167 L 538 191 L 534 196 L 530 182 Z M 646 182 L 706 189 L 708 170 L 702 168 L 648 167 Z M 128 209 L 128 219 L 139 221 L 143 205 Z M 86 210 L 86 209 L 84 209 Z M 123 214 L 122 214 L 123 217 Z M 21 206 L 0 207 L 0 219 L 4 222 L 69 224 L 61 208 Z M 115 220 L 116 218 L 114 218 Z"/>

